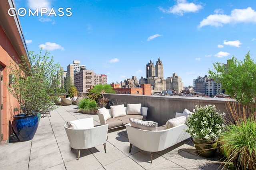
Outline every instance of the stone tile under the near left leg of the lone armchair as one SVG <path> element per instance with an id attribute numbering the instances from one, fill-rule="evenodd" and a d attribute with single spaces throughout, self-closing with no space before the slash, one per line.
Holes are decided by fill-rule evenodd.
<path id="1" fill-rule="evenodd" d="M 77 159 L 77 153 L 78 153 L 77 149 L 73 149 L 73 150 L 70 149 L 70 150 L 63 150 L 61 152 L 61 155 L 62 155 L 63 161 L 68 162 L 70 160 L 76 160 Z M 82 158 L 84 156 L 87 156 L 89 154 L 92 154 L 89 149 L 82 149 L 80 151 L 79 160 L 80 160 L 80 158 Z"/>

